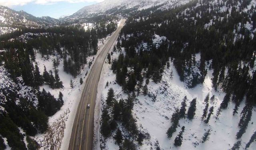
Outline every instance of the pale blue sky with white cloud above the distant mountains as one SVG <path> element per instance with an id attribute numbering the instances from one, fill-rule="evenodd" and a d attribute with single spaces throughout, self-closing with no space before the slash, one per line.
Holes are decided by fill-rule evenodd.
<path id="1" fill-rule="evenodd" d="M 24 10 L 36 17 L 72 15 L 84 6 L 96 4 L 103 0 L 0 0 L 0 5 L 13 10 Z"/>

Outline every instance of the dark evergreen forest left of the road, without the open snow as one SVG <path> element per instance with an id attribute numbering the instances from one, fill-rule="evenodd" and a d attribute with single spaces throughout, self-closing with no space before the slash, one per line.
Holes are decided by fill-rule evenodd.
<path id="1" fill-rule="evenodd" d="M 88 57 L 97 53 L 98 40 L 106 38 L 116 28 L 116 20 L 106 19 L 86 31 L 80 26 L 22 28 L 0 36 L 1 149 L 6 147 L 2 138 L 6 138 L 13 150 L 40 147 L 30 137 L 45 133 L 49 127 L 48 117 L 64 104 L 62 92 L 54 97 L 42 86 L 64 88 L 59 74 L 62 70 L 58 68 L 60 62 L 64 72 L 74 78 L 85 65 L 90 68 L 92 60 Z M 44 60 L 52 60 L 53 70 L 46 66 L 40 68 L 38 55 Z"/>

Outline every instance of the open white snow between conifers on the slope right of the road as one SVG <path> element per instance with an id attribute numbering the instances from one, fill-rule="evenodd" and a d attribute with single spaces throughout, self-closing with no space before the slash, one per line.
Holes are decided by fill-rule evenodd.
<path id="1" fill-rule="evenodd" d="M 196 54 L 196 59 L 200 59 L 200 54 Z M 116 58 L 118 53 L 114 52 L 112 59 Z M 107 60 L 105 60 L 107 62 Z M 122 91 L 122 88 L 116 84 L 116 75 L 110 70 L 110 64 L 105 63 L 102 69 L 100 84 L 98 85 L 97 94 L 97 105 L 101 106 L 101 101 L 105 101 L 107 97 L 107 92 L 109 88 L 113 88 L 116 99 L 125 99 L 127 94 Z M 209 67 L 209 66 L 207 66 Z M 156 96 L 156 101 L 154 102 L 149 96 L 144 96 L 140 94 L 138 102 L 134 105 L 133 115 L 137 120 L 137 126 L 140 130 L 148 132 L 151 136 L 150 140 L 144 140 L 143 145 L 139 147 L 141 150 L 149 150 L 150 148 L 155 149 L 156 141 L 159 142 L 159 146 L 163 150 L 228 150 L 233 144 L 238 141 L 236 140 L 236 133 L 238 132 L 238 122 L 240 120 L 240 113 L 244 107 L 244 102 L 240 104 L 238 114 L 232 115 L 234 104 L 229 103 L 228 108 L 221 112 L 219 119 L 215 118 L 216 111 L 222 102 L 225 93 L 221 89 L 219 92 L 214 91 L 212 88 L 212 72 L 213 70 L 207 70 L 207 75 L 203 84 L 197 85 L 195 88 L 189 89 L 184 86 L 184 83 L 179 80 L 178 73 L 173 67 L 170 61 L 170 68 L 165 68 L 162 81 L 158 84 L 152 82 L 148 84 L 148 93 L 150 95 Z M 171 78 L 171 74 L 173 74 Z M 106 87 L 106 82 L 111 82 L 108 87 Z M 145 79 L 144 79 L 145 84 Z M 144 85 L 143 84 L 143 85 Z M 204 98 L 207 94 L 210 97 L 215 96 L 213 102 L 209 102 L 209 108 L 214 106 L 214 114 L 211 116 L 208 124 L 201 121 L 201 116 L 203 114 L 203 109 L 205 107 Z M 168 138 L 166 131 L 171 126 L 171 115 L 174 109 L 180 107 L 181 101 L 187 96 L 188 101 L 186 102 L 188 106 L 193 98 L 197 98 L 196 103 L 196 115 L 193 120 L 180 119 L 177 131 L 174 132 L 172 138 Z M 100 109 L 96 110 L 100 114 Z M 250 140 L 253 132 L 256 130 L 256 108 L 253 108 L 252 118 L 248 124 L 246 132 L 242 136 L 242 144 L 240 149 L 244 149 L 246 143 Z M 95 120 L 95 150 L 100 149 L 100 133 L 99 125 L 100 118 Z M 181 147 L 174 146 L 174 138 L 180 131 L 181 127 L 185 126 L 185 132 L 183 135 L 183 142 Z M 206 130 L 211 129 L 210 139 L 202 143 L 202 136 Z M 115 131 L 114 131 L 115 133 Z M 256 148 L 256 142 L 253 142 L 248 148 L 248 150 L 254 150 Z M 119 146 L 115 144 L 114 139 L 111 137 L 106 141 L 106 150 L 118 150 Z"/>

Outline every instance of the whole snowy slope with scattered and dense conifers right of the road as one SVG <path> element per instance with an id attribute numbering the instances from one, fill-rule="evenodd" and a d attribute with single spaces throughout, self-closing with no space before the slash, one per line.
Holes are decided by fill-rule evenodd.
<path id="1" fill-rule="evenodd" d="M 170 9 L 160 5 L 132 12 L 106 60 L 111 68 L 106 74 L 114 79 L 107 75 L 103 79 L 101 148 L 160 150 L 161 144 L 172 149 L 180 147 L 185 136 L 186 141 L 192 140 L 192 148 L 200 145 L 204 149 L 200 143 L 209 140 L 213 130 L 225 136 L 218 133 L 221 128 L 232 132 L 224 138 L 236 141 L 232 149 L 249 148 L 252 142 L 247 139 L 252 136 L 255 140 L 248 133 L 255 132 L 251 121 L 256 104 L 255 5 L 254 0 L 192 0 Z M 183 85 L 172 79 L 177 79 L 175 72 Z M 202 98 L 206 91 L 209 93 Z M 166 128 L 169 116 L 171 125 L 161 133 L 166 137 L 160 136 L 156 131 Z M 232 119 L 231 128 L 238 130 L 224 127 L 229 125 L 223 118 Z M 198 126 L 208 128 L 201 141 L 195 131 L 186 133 L 198 131 Z M 180 132 L 178 127 L 182 127 Z M 178 134 L 176 138 L 174 134 Z M 173 144 L 166 145 L 166 139 Z M 227 141 L 217 145 L 227 148 Z M 241 141 L 248 142 L 247 146 Z M 186 142 L 182 148 L 191 147 Z"/>

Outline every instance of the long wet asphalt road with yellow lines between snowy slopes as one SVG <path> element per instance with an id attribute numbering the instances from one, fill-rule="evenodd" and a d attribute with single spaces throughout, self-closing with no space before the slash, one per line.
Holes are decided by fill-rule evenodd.
<path id="1" fill-rule="evenodd" d="M 118 34 L 124 26 L 124 23 L 125 20 L 123 19 L 115 33 L 110 37 L 108 42 L 104 44 L 102 52 L 100 52 L 96 58 L 96 61 L 88 74 L 82 97 L 77 108 L 68 150 L 93 149 L 94 108 L 100 73 L 104 60 L 118 38 Z M 87 104 L 91 105 L 90 108 L 87 108 Z"/>

